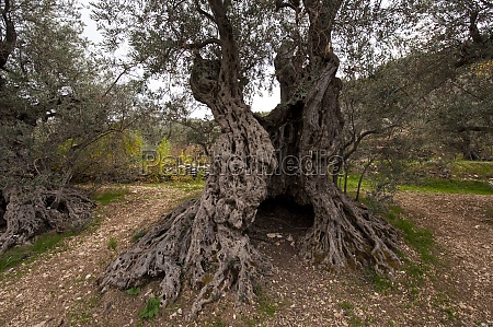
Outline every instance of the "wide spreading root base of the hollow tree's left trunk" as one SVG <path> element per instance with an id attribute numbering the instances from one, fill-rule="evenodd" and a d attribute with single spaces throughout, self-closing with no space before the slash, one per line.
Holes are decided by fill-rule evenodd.
<path id="1" fill-rule="evenodd" d="M 197 199 L 186 201 L 161 219 L 133 248 L 106 269 L 99 283 L 122 290 L 161 278 L 159 296 L 174 302 L 183 283 L 198 291 L 194 318 L 204 305 L 234 290 L 238 302 L 254 300 L 254 277 L 270 269 L 241 231 L 208 219 Z"/>

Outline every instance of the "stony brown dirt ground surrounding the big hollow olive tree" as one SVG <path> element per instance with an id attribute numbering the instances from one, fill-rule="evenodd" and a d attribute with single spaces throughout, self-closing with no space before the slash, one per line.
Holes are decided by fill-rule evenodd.
<path id="1" fill-rule="evenodd" d="M 274 266 L 259 289 L 259 303 L 234 307 L 226 296 L 190 323 L 185 316 L 193 294 L 185 291 L 149 323 L 139 319 L 139 312 L 158 282 L 131 296 L 117 290 L 101 294 L 95 280 L 137 231 L 186 195 L 167 186 L 129 188 L 125 199 L 99 209 L 99 225 L 0 276 L 0 326 L 493 327 L 492 196 L 399 194 L 405 218 L 433 232 L 438 260 L 428 268 L 403 266 L 392 284 L 365 271 L 334 275 L 308 266 L 296 254 L 296 240 L 309 222 L 272 215 L 252 234 Z M 402 252 L 416 259 L 406 246 Z"/>

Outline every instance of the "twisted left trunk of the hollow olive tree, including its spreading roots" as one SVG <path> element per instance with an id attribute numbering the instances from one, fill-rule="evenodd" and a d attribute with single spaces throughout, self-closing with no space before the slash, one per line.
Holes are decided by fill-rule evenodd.
<path id="1" fill-rule="evenodd" d="M 266 176 L 276 166 L 267 132 L 242 100 L 239 51 L 223 3 L 209 2 L 221 35 L 221 58 L 206 60 L 196 54 L 190 82 L 195 98 L 213 110 L 222 129 L 210 176 L 199 200 L 163 219 L 100 279 L 103 289 L 125 289 L 142 277 L 160 276 L 161 295 L 169 302 L 179 295 L 185 276 L 199 290 L 192 316 L 231 288 L 241 302 L 254 299 L 253 278 L 267 266 L 245 231 L 267 196 Z"/>

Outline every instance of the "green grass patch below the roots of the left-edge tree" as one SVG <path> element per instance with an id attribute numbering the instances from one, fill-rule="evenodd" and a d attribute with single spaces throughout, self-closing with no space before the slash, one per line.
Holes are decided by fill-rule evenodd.
<path id="1" fill-rule="evenodd" d="M 55 248 L 61 241 L 73 236 L 73 232 L 68 233 L 46 233 L 36 237 L 32 245 L 13 247 L 0 256 L 0 272 L 20 266 L 22 262 L 32 262 L 41 254 Z"/>

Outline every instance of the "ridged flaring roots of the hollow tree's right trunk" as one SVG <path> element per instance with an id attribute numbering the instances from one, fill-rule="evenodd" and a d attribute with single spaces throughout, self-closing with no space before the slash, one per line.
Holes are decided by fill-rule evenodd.
<path id="1" fill-rule="evenodd" d="M 393 278 L 400 265 L 394 253 L 397 230 L 331 183 L 326 186 L 325 196 L 312 198 L 314 223 L 301 241 L 301 255 L 332 271 L 371 267 L 378 275 Z"/>

